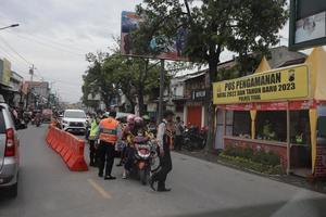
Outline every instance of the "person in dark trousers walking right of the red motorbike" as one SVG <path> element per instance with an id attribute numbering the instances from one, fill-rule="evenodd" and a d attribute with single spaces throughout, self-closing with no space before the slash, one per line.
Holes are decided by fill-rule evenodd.
<path id="1" fill-rule="evenodd" d="M 172 111 L 165 111 L 163 114 L 163 120 L 159 125 L 158 130 L 158 145 L 159 145 L 159 154 L 160 154 L 160 163 L 161 169 L 158 173 L 153 174 L 150 180 L 150 187 L 159 192 L 171 191 L 165 187 L 165 180 L 167 174 L 172 170 L 172 159 L 171 159 L 171 141 L 172 141 L 172 132 L 166 128 L 167 124 L 173 122 L 174 113 Z M 158 189 L 155 189 L 154 183 L 158 182 Z"/>

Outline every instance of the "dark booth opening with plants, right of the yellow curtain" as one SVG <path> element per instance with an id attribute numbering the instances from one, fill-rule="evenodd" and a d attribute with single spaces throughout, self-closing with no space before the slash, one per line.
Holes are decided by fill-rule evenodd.
<path id="1" fill-rule="evenodd" d="M 256 114 L 256 139 L 281 141 L 287 140 L 286 111 L 260 111 Z"/>

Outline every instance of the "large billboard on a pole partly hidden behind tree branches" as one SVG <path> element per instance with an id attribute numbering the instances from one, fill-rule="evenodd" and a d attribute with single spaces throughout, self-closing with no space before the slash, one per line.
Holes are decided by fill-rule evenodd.
<path id="1" fill-rule="evenodd" d="M 153 37 L 148 44 L 149 50 L 160 50 L 160 54 L 152 56 L 152 54 L 137 53 L 133 47 L 133 31 L 139 28 L 142 18 L 135 12 L 123 11 L 121 20 L 121 51 L 124 55 L 154 58 L 172 61 L 188 61 L 184 55 L 186 46 L 187 30 L 180 27 L 177 30 L 174 42 L 172 44 L 165 43 L 165 37 Z"/>

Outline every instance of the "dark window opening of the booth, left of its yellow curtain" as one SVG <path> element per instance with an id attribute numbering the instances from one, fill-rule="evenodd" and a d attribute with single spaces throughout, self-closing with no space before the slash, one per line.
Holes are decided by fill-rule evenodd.
<path id="1" fill-rule="evenodd" d="M 251 136 L 251 117 L 249 111 L 234 112 L 233 136 L 250 138 Z"/>

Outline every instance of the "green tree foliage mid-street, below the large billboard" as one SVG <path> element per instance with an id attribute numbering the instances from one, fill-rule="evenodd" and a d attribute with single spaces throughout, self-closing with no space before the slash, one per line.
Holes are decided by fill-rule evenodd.
<path id="1" fill-rule="evenodd" d="M 160 67 L 148 59 L 126 58 L 115 52 L 88 54 L 90 63 L 88 71 L 83 76 L 83 102 L 95 106 L 93 101 L 88 101 L 90 93 L 100 93 L 106 106 L 111 99 L 123 92 L 134 108 L 138 97 L 140 114 L 145 113 L 143 97 L 152 93 L 160 84 Z M 171 76 L 165 74 L 165 85 Z M 127 111 L 134 112 L 134 111 Z"/>

